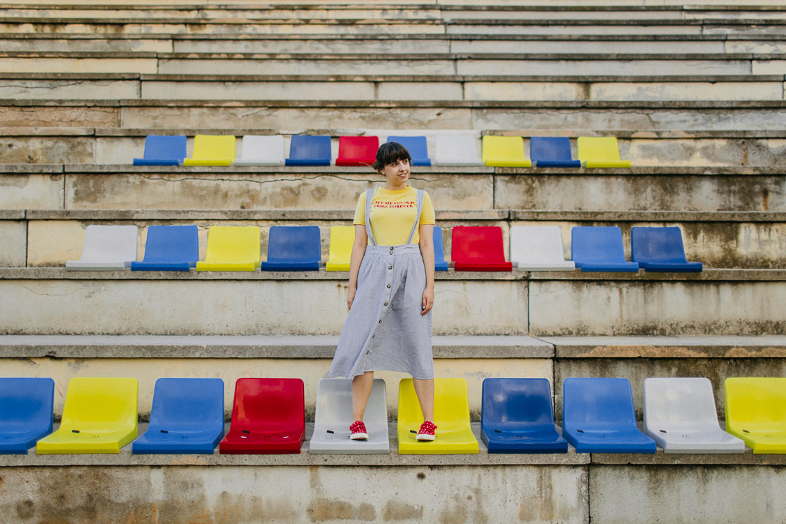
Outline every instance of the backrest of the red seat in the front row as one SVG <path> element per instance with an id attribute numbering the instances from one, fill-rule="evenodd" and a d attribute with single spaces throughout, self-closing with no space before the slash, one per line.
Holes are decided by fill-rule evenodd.
<path id="1" fill-rule="evenodd" d="M 305 424 L 305 398 L 301 379 L 237 379 L 232 423 L 281 431 Z"/>

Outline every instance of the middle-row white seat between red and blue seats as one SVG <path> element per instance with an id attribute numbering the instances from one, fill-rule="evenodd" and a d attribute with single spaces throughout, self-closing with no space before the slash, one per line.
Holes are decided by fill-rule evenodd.
<path id="1" fill-rule="evenodd" d="M 565 260 L 559 225 L 516 225 L 510 228 L 510 261 L 520 271 L 573 271 Z"/>

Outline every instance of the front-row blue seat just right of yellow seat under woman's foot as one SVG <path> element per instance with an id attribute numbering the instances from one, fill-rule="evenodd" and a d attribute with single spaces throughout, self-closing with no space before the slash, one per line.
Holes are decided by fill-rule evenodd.
<path id="1" fill-rule="evenodd" d="M 567 453 L 546 379 L 484 379 L 480 418 L 489 453 Z"/>

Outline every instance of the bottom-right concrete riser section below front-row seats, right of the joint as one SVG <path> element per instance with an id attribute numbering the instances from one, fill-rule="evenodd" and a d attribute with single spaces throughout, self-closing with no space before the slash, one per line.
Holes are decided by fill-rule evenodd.
<path id="1" fill-rule="evenodd" d="M 782 519 L 783 467 L 592 467 L 593 522 L 751 522 Z"/>

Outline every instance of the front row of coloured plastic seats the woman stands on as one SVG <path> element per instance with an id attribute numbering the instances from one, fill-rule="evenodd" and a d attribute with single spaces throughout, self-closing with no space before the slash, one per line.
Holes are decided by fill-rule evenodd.
<path id="1" fill-rule="evenodd" d="M 786 379 L 725 380 L 726 431 L 718 424 L 706 378 L 644 382 L 644 432 L 638 430 L 628 379 L 568 378 L 562 435 L 546 379 L 485 379 L 481 439 L 489 453 L 786 453 Z M 0 453 L 300 453 L 305 440 L 301 379 L 238 379 L 230 431 L 224 437 L 222 379 L 156 380 L 150 424 L 137 437 L 138 382 L 74 378 L 60 428 L 53 430 L 50 378 L 0 379 Z M 349 439 L 351 381 L 318 383 L 310 453 L 390 453 L 385 383 L 374 379 L 366 442 Z M 413 437 L 421 409 L 412 379 L 399 383 L 400 454 L 479 453 L 469 421 L 464 379 L 435 379 L 435 442 Z M 48 436 L 47 436 L 48 435 Z M 223 438 L 222 438 L 223 437 Z"/>

